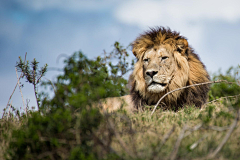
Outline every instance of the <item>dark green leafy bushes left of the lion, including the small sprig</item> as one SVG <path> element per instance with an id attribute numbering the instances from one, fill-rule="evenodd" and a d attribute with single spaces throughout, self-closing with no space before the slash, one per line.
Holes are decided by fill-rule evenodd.
<path id="1" fill-rule="evenodd" d="M 55 95 L 42 99 L 40 112 L 33 112 L 19 128 L 11 131 L 6 159 L 117 159 L 110 144 L 98 137 L 108 130 L 98 132 L 100 124 L 107 121 L 99 108 L 94 107 L 102 98 L 122 96 L 128 93 L 127 80 L 123 76 L 131 70 L 126 58 L 126 48 L 118 42 L 113 52 L 104 57 L 89 60 L 81 52 L 64 61 L 64 73 L 53 83 Z M 117 59 L 117 63 L 113 63 Z M 38 62 L 20 58 L 17 64 L 29 83 L 39 83 L 46 66 L 37 72 Z M 133 64 L 132 64 L 133 65 Z M 37 80 L 36 80 L 36 77 Z M 44 82 L 43 85 L 52 85 Z M 44 94 L 43 94 L 44 95 Z M 109 132 L 111 132 L 109 130 Z M 105 137 L 109 141 L 113 135 Z"/>

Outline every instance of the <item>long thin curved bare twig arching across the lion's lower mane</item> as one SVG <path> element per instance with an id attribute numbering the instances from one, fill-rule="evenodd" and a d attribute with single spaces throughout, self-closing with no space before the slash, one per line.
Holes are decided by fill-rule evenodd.
<path id="1" fill-rule="evenodd" d="M 185 86 L 185 87 L 182 87 L 182 88 L 178 88 L 178 89 L 175 89 L 175 90 L 172 90 L 166 94 L 164 94 L 160 99 L 159 101 L 157 102 L 157 104 L 155 105 L 152 113 L 151 113 L 151 116 L 153 115 L 153 113 L 155 112 L 157 106 L 160 104 L 160 102 L 163 100 L 163 98 L 165 98 L 167 95 L 173 93 L 173 92 L 176 92 L 176 91 L 179 91 L 179 90 L 182 90 L 182 89 L 186 89 L 186 88 L 190 88 L 190 87 L 194 87 L 194 86 L 201 86 L 201 85 L 206 85 L 206 84 L 212 84 L 212 83 L 221 83 L 221 82 L 225 82 L 225 83 L 228 83 L 228 84 L 233 84 L 235 82 L 228 82 L 227 80 L 217 80 L 217 81 L 211 81 L 211 82 L 205 82 L 205 83 L 198 83 L 198 84 L 193 84 L 193 85 L 189 85 L 189 86 Z"/>

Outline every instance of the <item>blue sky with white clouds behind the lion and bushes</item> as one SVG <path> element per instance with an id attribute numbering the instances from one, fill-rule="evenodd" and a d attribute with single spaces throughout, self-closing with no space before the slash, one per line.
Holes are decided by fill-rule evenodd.
<path id="1" fill-rule="evenodd" d="M 19 56 L 27 52 L 40 66 L 62 68 L 64 56 L 82 51 L 95 58 L 110 52 L 115 41 L 129 45 L 150 27 L 180 32 L 210 73 L 226 71 L 240 64 L 239 8 L 239 0 L 2 0 L 0 114 L 17 83 Z M 59 74 L 49 69 L 46 77 L 54 81 Z M 29 99 L 36 106 L 33 86 L 21 83 L 25 104 Z M 23 108 L 19 88 L 10 102 Z"/>

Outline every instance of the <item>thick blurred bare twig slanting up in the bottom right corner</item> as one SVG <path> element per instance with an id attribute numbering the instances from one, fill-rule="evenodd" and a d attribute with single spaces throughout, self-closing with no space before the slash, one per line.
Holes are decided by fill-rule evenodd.
<path id="1" fill-rule="evenodd" d="M 237 116 L 236 116 L 235 120 L 233 121 L 232 125 L 230 126 L 230 129 L 228 130 L 227 134 L 223 138 L 222 142 L 218 145 L 218 147 L 215 149 L 215 151 L 213 153 L 208 154 L 207 157 L 209 159 L 214 158 L 218 154 L 218 152 L 222 149 L 224 144 L 227 142 L 227 140 L 229 139 L 230 135 L 232 134 L 234 128 L 237 126 L 237 122 L 239 121 L 239 114 L 240 114 L 240 110 L 238 109 Z"/>

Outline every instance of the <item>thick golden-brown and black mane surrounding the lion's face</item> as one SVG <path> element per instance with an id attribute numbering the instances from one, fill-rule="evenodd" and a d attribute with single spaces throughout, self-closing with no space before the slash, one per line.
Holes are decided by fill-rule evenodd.
<path id="1" fill-rule="evenodd" d="M 156 104 L 164 94 L 171 90 L 209 81 L 209 75 L 198 55 L 188 46 L 187 39 L 177 32 L 163 27 L 153 28 L 140 35 L 133 42 L 132 47 L 137 62 L 130 77 L 130 83 L 132 87 L 131 97 L 136 109 L 141 109 L 144 105 Z M 143 57 L 147 51 L 151 49 L 157 51 L 159 47 L 166 49 L 168 53 L 173 55 L 174 64 L 171 66 L 175 67 L 167 88 L 160 93 L 152 93 L 147 90 L 145 83 Z M 207 100 L 208 91 L 209 85 L 201 85 L 173 92 L 164 98 L 161 106 L 173 110 L 184 105 L 201 107 Z"/>

